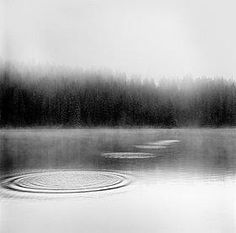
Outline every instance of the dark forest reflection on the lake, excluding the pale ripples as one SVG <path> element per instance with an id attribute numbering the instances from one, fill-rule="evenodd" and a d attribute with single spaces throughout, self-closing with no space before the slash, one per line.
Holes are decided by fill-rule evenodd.
<path id="1" fill-rule="evenodd" d="M 166 148 L 140 150 L 159 140 L 179 140 Z M 0 133 L 0 169 L 11 173 L 25 169 L 112 169 L 136 171 L 188 171 L 235 174 L 234 129 L 154 130 L 8 130 Z M 107 160 L 101 153 L 152 153 L 149 160 Z"/>

